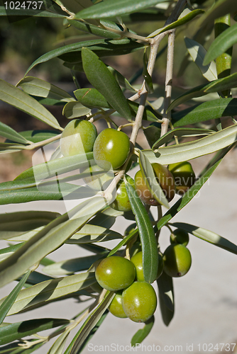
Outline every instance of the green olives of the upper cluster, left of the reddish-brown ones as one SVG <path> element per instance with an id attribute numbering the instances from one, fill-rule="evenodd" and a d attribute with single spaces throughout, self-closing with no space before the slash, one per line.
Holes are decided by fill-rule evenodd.
<path id="1" fill-rule="evenodd" d="M 87 120 L 75 119 L 63 130 L 60 149 L 63 156 L 93 152 L 94 164 L 81 170 L 87 173 L 84 182 L 93 190 L 105 190 L 114 178 L 113 171 L 119 169 L 128 158 L 130 141 L 124 132 L 111 128 L 97 135 L 97 128 L 94 124 Z M 127 178 L 134 186 L 133 178 L 130 176 Z M 118 183 L 116 200 L 111 207 L 123 212 L 131 210 L 123 181 Z"/>

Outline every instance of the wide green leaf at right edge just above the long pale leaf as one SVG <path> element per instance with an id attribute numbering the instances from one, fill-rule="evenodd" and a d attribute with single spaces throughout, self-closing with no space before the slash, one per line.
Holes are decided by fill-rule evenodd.
<path id="1" fill-rule="evenodd" d="M 182 127 L 206 120 L 236 115 L 237 98 L 219 98 L 217 100 L 194 105 L 180 112 L 174 113 L 172 119 L 174 127 Z"/>

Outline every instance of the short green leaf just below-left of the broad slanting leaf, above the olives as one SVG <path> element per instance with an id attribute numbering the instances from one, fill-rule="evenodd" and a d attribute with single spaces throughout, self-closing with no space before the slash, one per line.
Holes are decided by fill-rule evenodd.
<path id="1" fill-rule="evenodd" d="M 111 108 L 104 96 L 97 89 L 79 89 L 74 91 L 79 103 L 89 108 Z"/>

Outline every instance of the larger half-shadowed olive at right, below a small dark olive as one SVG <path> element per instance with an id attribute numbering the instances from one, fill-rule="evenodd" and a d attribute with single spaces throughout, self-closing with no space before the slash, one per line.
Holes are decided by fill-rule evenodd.
<path id="1" fill-rule="evenodd" d="M 177 278 L 185 275 L 192 263 L 191 253 L 182 244 L 171 244 L 163 254 L 164 270 L 170 277 Z"/>

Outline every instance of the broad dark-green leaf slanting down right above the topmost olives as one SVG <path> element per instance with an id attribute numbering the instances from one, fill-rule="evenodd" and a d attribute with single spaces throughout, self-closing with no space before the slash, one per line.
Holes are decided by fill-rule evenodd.
<path id="1" fill-rule="evenodd" d="M 131 111 L 113 74 L 99 57 L 88 48 L 82 49 L 82 64 L 89 82 L 106 98 L 106 101 L 123 117 L 131 119 Z"/>

